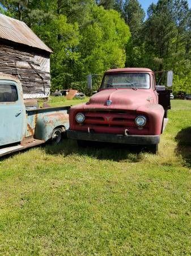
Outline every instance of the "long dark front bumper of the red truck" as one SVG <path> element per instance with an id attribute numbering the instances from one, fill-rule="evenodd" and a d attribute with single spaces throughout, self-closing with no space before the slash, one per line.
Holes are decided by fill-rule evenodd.
<path id="1" fill-rule="evenodd" d="M 67 130 L 67 138 L 82 141 L 111 142 L 124 144 L 158 144 L 160 135 L 120 135 L 106 133 L 86 133 L 83 131 Z"/>

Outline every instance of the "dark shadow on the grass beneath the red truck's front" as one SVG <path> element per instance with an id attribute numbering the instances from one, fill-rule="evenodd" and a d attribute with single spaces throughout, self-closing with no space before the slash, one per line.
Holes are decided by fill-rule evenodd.
<path id="1" fill-rule="evenodd" d="M 82 156 L 91 156 L 96 159 L 104 160 L 129 160 L 130 162 L 139 162 L 142 160 L 143 148 L 139 146 L 130 146 L 126 144 L 113 143 L 92 143 L 88 147 L 79 147 L 77 142 L 64 139 L 61 144 L 56 146 L 46 145 L 45 151 L 52 155 L 71 155 L 78 154 Z"/>

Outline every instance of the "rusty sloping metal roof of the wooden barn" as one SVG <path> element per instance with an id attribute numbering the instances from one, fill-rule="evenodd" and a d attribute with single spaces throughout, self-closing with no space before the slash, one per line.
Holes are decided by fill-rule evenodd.
<path id="1" fill-rule="evenodd" d="M 0 14 L 1 38 L 52 53 L 52 50 L 35 35 L 26 23 L 3 14 Z"/>

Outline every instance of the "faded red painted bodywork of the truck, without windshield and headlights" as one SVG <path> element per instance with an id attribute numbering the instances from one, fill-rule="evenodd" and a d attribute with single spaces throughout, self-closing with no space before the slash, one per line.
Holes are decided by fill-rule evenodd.
<path id="1" fill-rule="evenodd" d="M 105 73 L 144 72 L 153 75 L 151 69 L 123 68 L 111 69 Z M 152 79 L 150 79 L 152 81 Z M 107 106 L 107 100 L 112 105 Z M 86 120 L 83 124 L 75 121 L 77 113 L 83 113 Z M 147 117 L 147 124 L 140 129 L 135 125 L 137 115 Z M 86 104 L 73 106 L 70 109 L 70 130 L 94 131 L 95 133 L 124 134 L 128 130 L 130 135 L 160 135 L 162 133 L 164 109 L 158 104 L 158 93 L 155 85 L 150 89 L 117 88 L 100 89 Z"/>

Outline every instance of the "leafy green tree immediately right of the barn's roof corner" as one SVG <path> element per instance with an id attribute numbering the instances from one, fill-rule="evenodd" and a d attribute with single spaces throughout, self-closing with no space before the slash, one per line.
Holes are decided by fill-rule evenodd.
<path id="1" fill-rule="evenodd" d="M 33 30 L 53 49 L 51 55 L 52 90 L 67 87 L 74 80 L 72 63 L 79 58 L 75 47 L 79 44 L 78 24 L 67 23 L 65 15 L 50 16 L 49 22 L 35 24 Z"/>

